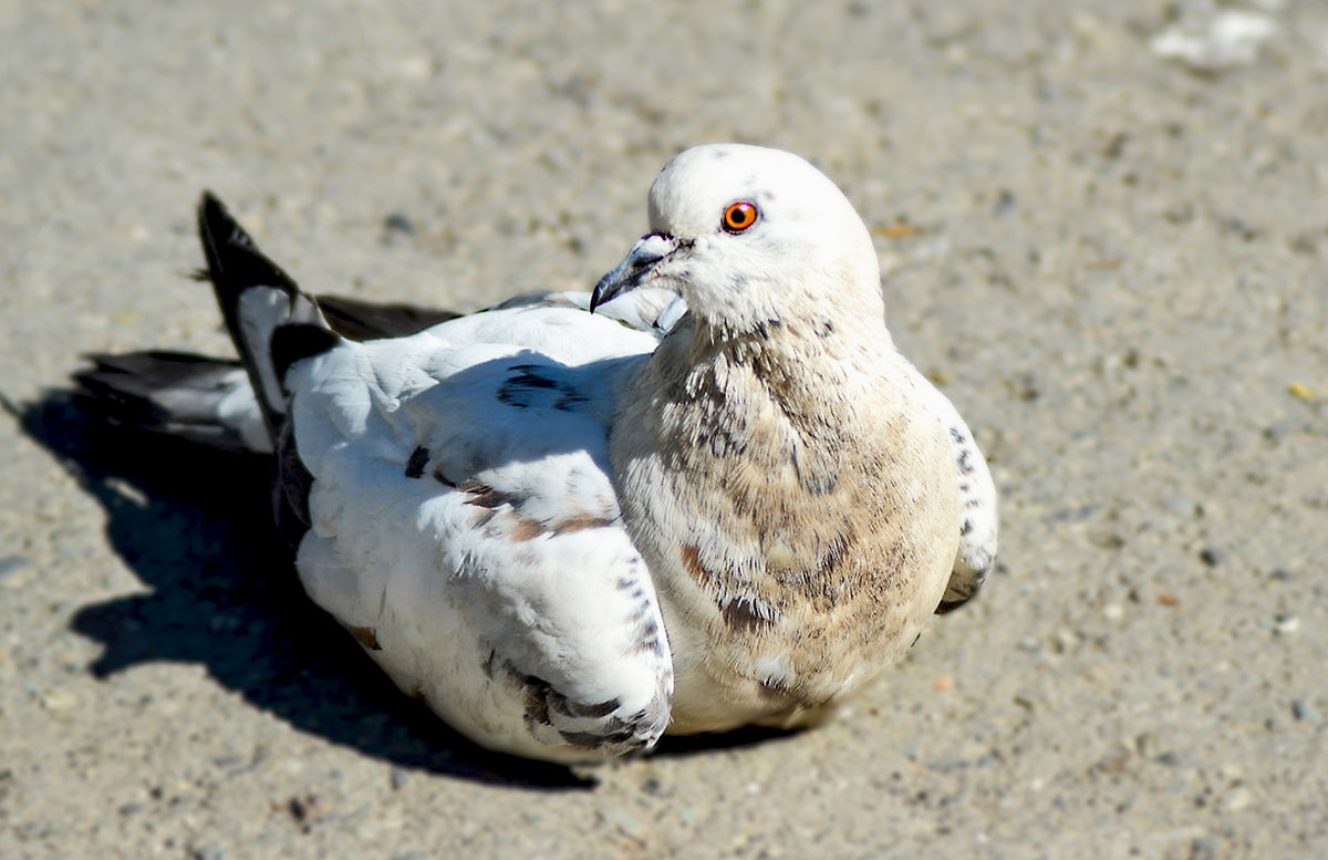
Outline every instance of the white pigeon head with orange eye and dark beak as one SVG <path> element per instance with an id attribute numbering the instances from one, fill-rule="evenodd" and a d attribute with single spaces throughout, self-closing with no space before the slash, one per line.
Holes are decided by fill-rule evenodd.
<path id="1" fill-rule="evenodd" d="M 651 232 L 595 287 L 591 308 L 637 287 L 677 292 L 728 336 L 884 309 L 871 236 L 843 192 L 774 149 L 696 146 L 649 194 Z"/>

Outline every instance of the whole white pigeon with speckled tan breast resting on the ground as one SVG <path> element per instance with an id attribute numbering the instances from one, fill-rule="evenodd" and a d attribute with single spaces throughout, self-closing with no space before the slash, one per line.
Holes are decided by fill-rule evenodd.
<path id="1" fill-rule="evenodd" d="M 114 419 L 275 450 L 309 596 L 486 747 L 815 723 L 992 567 L 985 461 L 795 155 L 689 149 L 592 295 L 378 340 L 329 321 L 390 313 L 300 292 L 210 195 L 199 230 L 244 370 L 135 353 L 80 381 Z"/>

